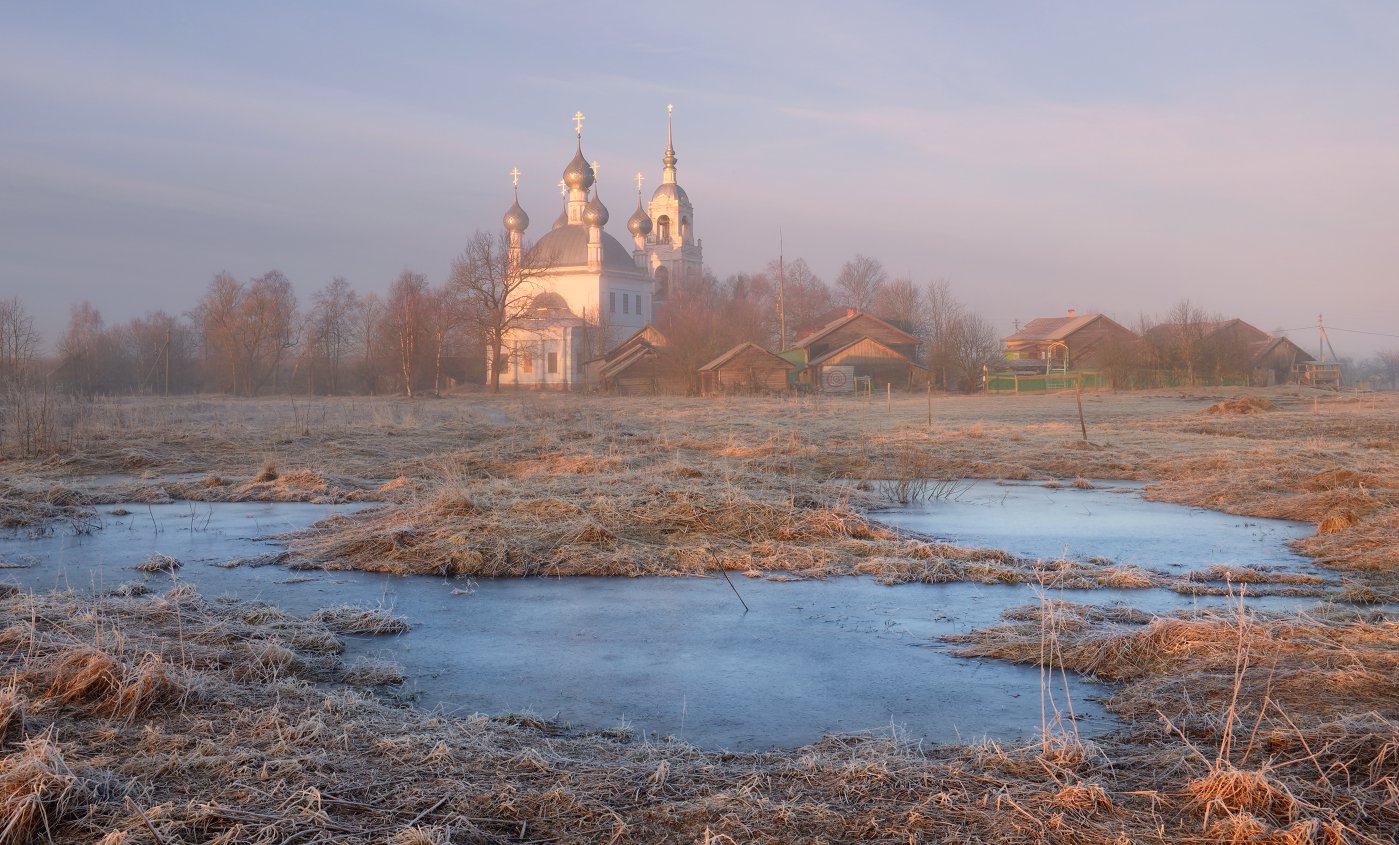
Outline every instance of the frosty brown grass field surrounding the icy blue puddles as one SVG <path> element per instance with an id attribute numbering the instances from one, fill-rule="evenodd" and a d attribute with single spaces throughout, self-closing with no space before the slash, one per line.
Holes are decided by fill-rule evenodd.
<path id="1" fill-rule="evenodd" d="M 1315 595 L 1298 616 L 1143 618 L 1052 599 L 957 644 L 1119 684 L 1128 727 L 1023 748 L 830 737 L 725 754 L 355 683 L 344 613 L 185 588 L 0 600 L 0 842 L 1388 842 L 1399 827 L 1399 397 L 579 396 L 113 400 L 8 456 L 0 523 L 104 502 L 371 501 L 291 565 L 442 576 L 704 575 Z M 1318 579 L 1017 560 L 869 509 L 961 477 L 1091 484 L 1318 526 Z M 1333 582 L 1333 583 L 1332 583 Z M 890 589 L 898 589 L 891 586 Z M 1343 599 L 1335 602 L 1333 599 Z M 375 620 L 355 620 L 369 624 Z M 381 620 L 386 630 L 395 620 Z M 407 620 L 411 624 L 413 620 Z M 105 837 L 105 838 L 104 838 Z"/>

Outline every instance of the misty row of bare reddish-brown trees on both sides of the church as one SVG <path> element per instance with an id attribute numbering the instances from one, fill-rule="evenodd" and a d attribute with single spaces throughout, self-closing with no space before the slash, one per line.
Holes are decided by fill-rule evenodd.
<path id="1" fill-rule="evenodd" d="M 8 299 L 0 304 L 0 385 L 42 382 L 90 396 L 414 396 L 490 383 L 487 347 L 522 322 L 548 266 L 548 256 L 526 255 L 533 267 L 511 270 L 505 255 L 497 238 L 477 234 L 445 280 L 404 270 L 382 294 L 337 277 L 301 298 L 277 270 L 249 280 L 218 273 L 189 311 L 115 325 L 84 301 L 71 308 L 50 355 L 24 304 Z M 741 341 L 788 348 L 799 329 L 838 306 L 870 311 L 915 334 L 942 388 L 974 386 L 982 365 L 1000 354 L 995 329 L 946 281 L 890 278 L 867 256 L 846 262 L 834 284 L 802 259 L 774 259 L 723 280 L 711 273 L 677 280 L 656 306 L 656 323 L 676 358 L 697 369 Z"/>

